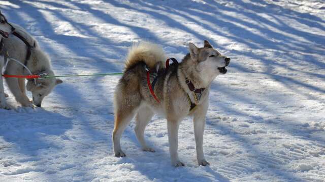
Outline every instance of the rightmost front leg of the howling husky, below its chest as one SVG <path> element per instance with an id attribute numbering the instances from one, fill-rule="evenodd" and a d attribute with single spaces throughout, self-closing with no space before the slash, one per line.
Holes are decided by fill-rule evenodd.
<path id="1" fill-rule="evenodd" d="M 205 160 L 203 152 L 203 133 L 205 126 L 205 116 L 208 111 L 208 101 L 202 103 L 202 105 L 197 106 L 198 108 L 193 114 L 193 125 L 194 125 L 194 135 L 197 149 L 197 159 L 199 165 L 209 165 L 209 162 Z"/>

